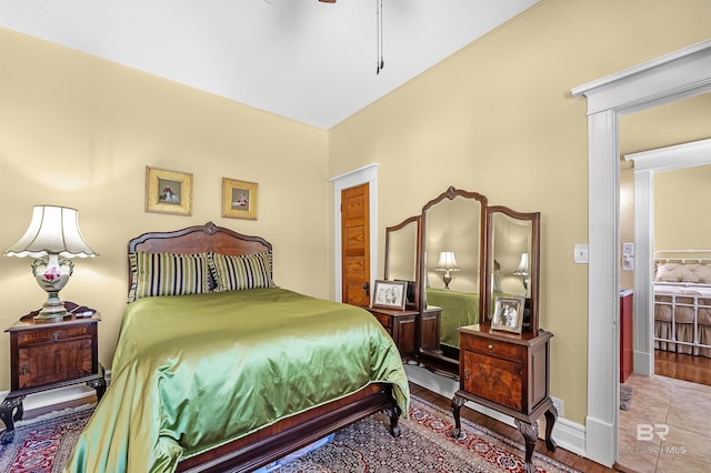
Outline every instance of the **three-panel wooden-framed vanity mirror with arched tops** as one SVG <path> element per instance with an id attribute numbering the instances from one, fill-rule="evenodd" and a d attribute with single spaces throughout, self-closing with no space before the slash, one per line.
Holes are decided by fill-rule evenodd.
<path id="1" fill-rule="evenodd" d="M 498 298 L 521 298 L 521 330 L 538 332 L 540 213 L 450 187 L 420 215 L 385 229 L 384 279 L 409 282 L 419 311 L 417 362 L 459 374 L 459 328 L 491 323 Z M 437 326 L 424 313 L 440 308 Z M 432 340 L 434 339 L 434 342 Z"/>

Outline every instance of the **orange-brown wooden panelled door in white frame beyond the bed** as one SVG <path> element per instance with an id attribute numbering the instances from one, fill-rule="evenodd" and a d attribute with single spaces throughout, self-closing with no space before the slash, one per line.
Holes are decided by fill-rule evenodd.
<path id="1" fill-rule="evenodd" d="M 341 299 L 352 305 L 370 305 L 368 185 L 341 191 Z"/>

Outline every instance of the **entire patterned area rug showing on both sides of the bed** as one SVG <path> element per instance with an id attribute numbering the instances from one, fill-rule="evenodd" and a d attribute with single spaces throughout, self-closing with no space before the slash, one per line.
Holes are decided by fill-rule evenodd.
<path id="1" fill-rule="evenodd" d="M 0 472 L 60 472 L 87 424 L 91 405 L 18 422 L 14 442 L 0 446 Z M 449 411 L 412 397 L 410 421 L 401 421 L 399 439 L 388 433 L 389 420 L 378 413 L 337 432 L 326 445 L 272 473 L 412 473 L 523 472 L 523 444 L 462 419 L 465 436 L 449 436 Z M 578 472 L 534 452 L 537 472 Z"/>

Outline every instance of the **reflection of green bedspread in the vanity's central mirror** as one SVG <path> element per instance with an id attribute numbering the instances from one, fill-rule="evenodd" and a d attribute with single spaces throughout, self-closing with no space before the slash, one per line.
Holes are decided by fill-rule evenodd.
<path id="1" fill-rule="evenodd" d="M 479 323 L 479 294 L 427 288 L 428 305 L 442 308 L 440 343 L 459 348 L 457 329 Z"/>

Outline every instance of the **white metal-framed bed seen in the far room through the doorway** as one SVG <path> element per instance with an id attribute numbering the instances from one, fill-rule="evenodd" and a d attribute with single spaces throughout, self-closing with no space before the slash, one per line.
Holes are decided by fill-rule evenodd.
<path id="1" fill-rule="evenodd" d="M 654 349 L 711 358 L 711 250 L 654 253 Z"/>

